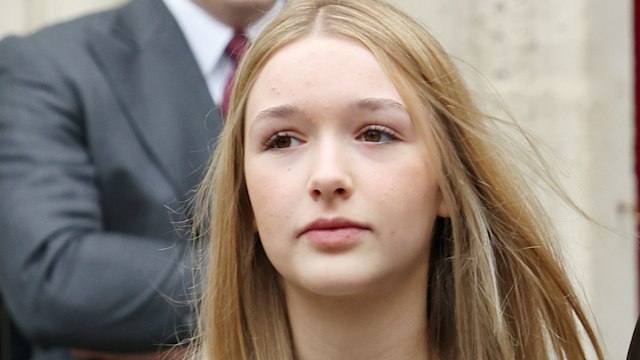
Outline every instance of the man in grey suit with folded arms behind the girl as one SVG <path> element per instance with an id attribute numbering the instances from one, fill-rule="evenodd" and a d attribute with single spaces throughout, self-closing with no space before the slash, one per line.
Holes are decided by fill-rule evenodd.
<path id="1" fill-rule="evenodd" d="M 224 48 L 273 4 L 133 0 L 0 42 L 0 291 L 34 359 L 162 358 L 192 334 L 185 208 Z"/>

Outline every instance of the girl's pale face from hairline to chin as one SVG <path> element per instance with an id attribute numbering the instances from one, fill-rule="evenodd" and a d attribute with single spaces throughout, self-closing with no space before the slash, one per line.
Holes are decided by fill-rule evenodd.
<path id="1" fill-rule="evenodd" d="M 255 224 L 285 289 L 426 286 L 433 224 L 446 215 L 437 155 L 371 52 L 321 35 L 285 46 L 258 76 L 245 121 Z"/>

